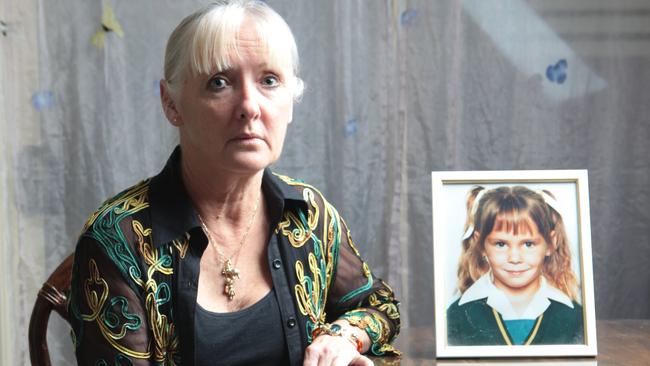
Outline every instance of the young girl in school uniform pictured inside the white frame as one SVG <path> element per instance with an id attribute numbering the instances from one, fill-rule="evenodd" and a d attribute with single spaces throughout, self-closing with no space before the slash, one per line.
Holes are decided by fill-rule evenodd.
<path id="1" fill-rule="evenodd" d="M 561 210 L 548 190 L 475 186 L 447 307 L 447 342 L 584 344 L 583 308 Z"/>

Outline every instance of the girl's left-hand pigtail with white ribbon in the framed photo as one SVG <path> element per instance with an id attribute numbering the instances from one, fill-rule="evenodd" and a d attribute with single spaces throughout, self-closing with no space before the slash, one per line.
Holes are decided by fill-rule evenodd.
<path id="1" fill-rule="evenodd" d="M 461 294 L 489 269 L 487 262 L 481 257 L 480 239 L 479 235 L 476 235 L 475 225 L 480 199 L 485 191 L 484 187 L 475 186 L 467 195 L 467 218 L 458 261 L 458 291 Z"/>

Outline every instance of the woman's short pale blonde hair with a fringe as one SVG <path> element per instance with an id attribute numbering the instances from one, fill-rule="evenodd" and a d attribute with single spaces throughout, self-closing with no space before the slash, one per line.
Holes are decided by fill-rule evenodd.
<path id="1" fill-rule="evenodd" d="M 245 20 L 251 20 L 267 52 L 270 67 L 290 67 L 293 94 L 302 95 L 298 77 L 298 48 L 289 25 L 266 3 L 255 0 L 217 1 L 190 14 L 174 29 L 165 49 L 165 83 L 178 95 L 189 74 L 209 74 L 231 66 L 239 55 L 237 36 Z"/>

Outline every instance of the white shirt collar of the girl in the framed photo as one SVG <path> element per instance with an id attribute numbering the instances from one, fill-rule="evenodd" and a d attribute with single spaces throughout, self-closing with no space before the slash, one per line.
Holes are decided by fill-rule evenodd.
<path id="1" fill-rule="evenodd" d="M 494 286 L 491 277 L 490 272 L 481 276 L 481 278 L 474 282 L 474 284 L 463 293 L 458 305 L 487 298 L 487 304 L 499 312 L 503 317 L 503 320 L 536 319 L 546 311 L 549 305 L 551 305 L 549 299 L 560 302 L 573 309 L 571 299 L 569 299 L 569 297 L 559 289 L 551 286 L 546 281 L 546 278 L 542 276 L 539 290 L 537 290 L 537 293 L 533 296 L 533 299 L 530 301 L 530 304 L 528 304 L 526 310 L 524 310 L 522 314 L 518 314 L 503 291 Z"/>

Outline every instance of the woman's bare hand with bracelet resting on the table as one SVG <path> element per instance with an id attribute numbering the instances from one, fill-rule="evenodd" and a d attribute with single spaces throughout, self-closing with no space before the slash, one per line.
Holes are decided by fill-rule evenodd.
<path id="1" fill-rule="evenodd" d="M 363 345 L 369 344 L 370 339 L 365 331 L 351 327 L 346 321 L 335 323 L 345 332 L 353 332 Z M 372 361 L 360 354 L 353 342 L 347 335 L 320 334 L 305 350 L 303 366 L 372 366 Z"/>

